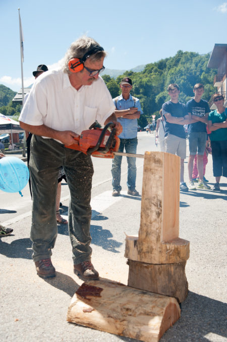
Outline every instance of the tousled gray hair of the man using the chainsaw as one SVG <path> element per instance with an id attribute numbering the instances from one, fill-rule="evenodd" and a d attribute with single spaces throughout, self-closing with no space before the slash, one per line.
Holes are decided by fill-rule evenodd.
<path id="1" fill-rule="evenodd" d="M 69 60 L 71 60 L 72 58 L 82 58 L 89 50 L 91 50 L 91 48 L 94 45 L 98 45 L 100 46 L 97 41 L 95 41 L 93 38 L 91 37 L 87 37 L 87 36 L 82 36 L 80 38 L 78 38 L 77 40 L 75 40 L 69 47 L 69 50 L 66 52 L 65 55 L 65 61 L 64 61 L 64 72 L 67 74 L 71 74 L 71 71 L 69 70 Z M 92 62 L 96 62 L 98 60 L 100 60 L 102 57 L 106 57 L 106 52 L 105 51 L 98 51 L 96 54 L 91 55 L 89 57 L 89 59 Z"/>

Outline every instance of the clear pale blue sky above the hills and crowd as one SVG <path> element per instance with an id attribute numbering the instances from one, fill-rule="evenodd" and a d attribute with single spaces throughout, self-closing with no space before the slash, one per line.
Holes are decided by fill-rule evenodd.
<path id="1" fill-rule="evenodd" d="M 226 43 L 223 0 L 0 0 L 0 84 L 21 88 L 18 8 L 24 33 L 24 86 L 39 64 L 54 68 L 82 34 L 108 52 L 104 66 L 130 69 L 174 56 L 211 52 Z"/>

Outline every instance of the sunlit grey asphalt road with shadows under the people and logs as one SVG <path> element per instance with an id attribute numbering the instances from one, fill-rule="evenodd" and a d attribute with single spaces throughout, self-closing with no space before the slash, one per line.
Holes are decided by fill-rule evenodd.
<path id="1" fill-rule="evenodd" d="M 154 151 L 154 136 L 138 133 L 138 153 Z M 187 154 L 188 155 L 188 154 Z M 141 198 L 127 194 L 126 160 L 122 168 L 122 196 L 111 196 L 111 160 L 94 158 L 92 186 L 92 262 L 102 278 L 127 284 L 124 258 L 125 233 L 139 230 Z M 143 160 L 137 160 L 137 190 L 142 189 Z M 185 179 L 187 181 L 187 159 Z M 212 160 L 208 157 L 206 178 L 210 185 Z M 189 295 L 182 303 L 182 315 L 161 341 L 227 341 L 226 334 L 226 179 L 220 192 L 196 190 L 180 195 L 180 237 L 190 240 L 186 265 Z M 31 200 L 28 186 L 19 194 L 0 191 L 0 222 L 12 227 L 10 236 L 0 239 L 1 328 L 0 341 L 132 341 L 66 321 L 75 290 L 82 281 L 73 273 L 71 245 L 65 225 L 53 249 L 55 278 L 36 275 L 31 260 Z M 63 182 L 61 212 L 68 212 L 68 185 Z"/>

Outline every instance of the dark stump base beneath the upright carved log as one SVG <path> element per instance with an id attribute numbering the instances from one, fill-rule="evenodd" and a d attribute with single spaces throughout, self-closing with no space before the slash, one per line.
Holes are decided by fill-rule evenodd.
<path id="1" fill-rule="evenodd" d="M 128 260 L 131 287 L 175 297 L 182 303 L 188 295 L 186 261 L 174 264 L 146 264 Z"/>

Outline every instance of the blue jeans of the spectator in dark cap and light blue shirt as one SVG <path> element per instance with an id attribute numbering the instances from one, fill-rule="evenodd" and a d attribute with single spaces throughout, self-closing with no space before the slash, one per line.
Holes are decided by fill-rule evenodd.
<path id="1" fill-rule="evenodd" d="M 120 138 L 120 147 L 119 152 L 124 152 L 124 148 L 126 153 L 134 153 L 136 154 L 137 147 L 137 137 L 132 139 L 122 139 Z M 136 158 L 135 157 L 127 157 L 128 162 L 128 181 L 127 185 L 129 190 L 134 190 L 136 187 Z M 122 164 L 122 156 L 115 156 L 112 161 L 112 187 L 113 190 L 121 191 L 122 187 L 121 183 L 121 164 Z"/>

